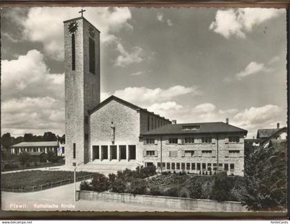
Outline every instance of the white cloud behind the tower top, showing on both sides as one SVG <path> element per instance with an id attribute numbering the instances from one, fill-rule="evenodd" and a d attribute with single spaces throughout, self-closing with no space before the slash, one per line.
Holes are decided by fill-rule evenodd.
<path id="1" fill-rule="evenodd" d="M 63 21 L 79 17 L 79 8 L 33 7 L 23 15 L 19 8 L 12 11 L 14 21 L 22 27 L 23 38 L 43 44 L 44 53 L 52 59 L 64 59 Z M 110 42 L 117 38 L 115 33 L 130 28 L 131 11 L 126 8 L 86 8 L 84 17 L 101 30 L 101 41 Z M 21 19 L 19 19 L 21 18 Z"/>

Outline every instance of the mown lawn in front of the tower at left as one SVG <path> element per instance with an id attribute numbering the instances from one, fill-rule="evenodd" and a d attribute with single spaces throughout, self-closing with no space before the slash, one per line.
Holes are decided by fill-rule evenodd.
<path id="1" fill-rule="evenodd" d="M 92 173 L 77 172 L 77 180 L 89 178 Z M 72 171 L 19 171 L 1 174 L 1 189 L 12 192 L 31 192 L 73 183 Z"/>

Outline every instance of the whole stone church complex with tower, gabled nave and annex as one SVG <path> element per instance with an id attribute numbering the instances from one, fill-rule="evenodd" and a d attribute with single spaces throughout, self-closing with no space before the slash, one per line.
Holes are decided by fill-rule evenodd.
<path id="1" fill-rule="evenodd" d="M 229 122 L 176 124 L 119 97 L 100 102 L 100 32 L 64 21 L 66 166 L 244 175 L 247 131 Z"/>

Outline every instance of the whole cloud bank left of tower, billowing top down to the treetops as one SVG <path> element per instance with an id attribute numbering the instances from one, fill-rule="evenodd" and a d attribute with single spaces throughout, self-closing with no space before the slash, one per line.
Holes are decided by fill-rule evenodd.
<path id="1" fill-rule="evenodd" d="M 38 50 L 1 65 L 1 130 L 63 134 L 64 74 L 50 73 Z"/>

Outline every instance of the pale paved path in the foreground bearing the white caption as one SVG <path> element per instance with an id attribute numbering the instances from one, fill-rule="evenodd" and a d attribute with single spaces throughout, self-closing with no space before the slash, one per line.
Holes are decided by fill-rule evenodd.
<path id="1" fill-rule="evenodd" d="M 79 189 L 79 183 L 77 183 Z M 124 203 L 108 203 L 104 201 L 73 199 L 73 184 L 54 187 L 40 192 L 12 193 L 1 192 L 2 209 L 18 211 L 130 211 L 130 212 L 186 212 L 176 209 L 162 209 L 140 205 L 126 205 Z M 19 207 L 22 206 L 22 207 Z M 188 211 L 189 212 L 189 211 Z M 192 212 L 192 211 L 191 211 Z"/>

